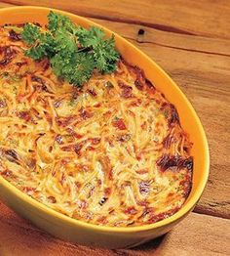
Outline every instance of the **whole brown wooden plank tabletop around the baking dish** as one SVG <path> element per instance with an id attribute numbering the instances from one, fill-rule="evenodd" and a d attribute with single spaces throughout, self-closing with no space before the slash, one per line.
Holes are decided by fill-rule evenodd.
<path id="1" fill-rule="evenodd" d="M 173 232 L 130 250 L 60 241 L 0 203 L 0 255 L 230 255 L 230 1 L 13 0 L 0 2 L 0 7 L 26 4 L 88 17 L 160 64 L 202 120 L 211 149 L 211 175 L 194 212 Z M 141 38 L 139 29 L 144 30 Z"/>

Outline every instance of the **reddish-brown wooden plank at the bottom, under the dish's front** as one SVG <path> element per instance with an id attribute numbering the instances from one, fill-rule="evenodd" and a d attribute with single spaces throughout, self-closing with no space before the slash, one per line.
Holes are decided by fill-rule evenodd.
<path id="1" fill-rule="evenodd" d="M 191 213 L 170 234 L 134 249 L 94 249 L 74 245 L 47 235 L 0 204 L 1 256 L 20 256 L 21 253 L 23 256 L 229 255 L 229 240 L 229 220 Z"/>

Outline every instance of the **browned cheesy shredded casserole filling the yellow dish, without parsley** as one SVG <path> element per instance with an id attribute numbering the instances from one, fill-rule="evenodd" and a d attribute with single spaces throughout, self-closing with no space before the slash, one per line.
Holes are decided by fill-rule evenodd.
<path id="1" fill-rule="evenodd" d="M 167 218 L 191 189 L 176 109 L 124 61 L 78 91 L 0 28 L 0 174 L 34 199 L 97 225 Z"/>

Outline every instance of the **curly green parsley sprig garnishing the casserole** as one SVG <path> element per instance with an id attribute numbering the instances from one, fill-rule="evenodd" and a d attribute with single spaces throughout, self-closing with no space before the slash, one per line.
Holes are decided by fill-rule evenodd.
<path id="1" fill-rule="evenodd" d="M 107 39 L 102 29 L 86 29 L 54 12 L 50 12 L 48 20 L 45 32 L 38 25 L 24 25 L 21 36 L 29 46 L 26 56 L 35 61 L 48 58 L 58 77 L 78 87 L 91 78 L 95 69 L 100 73 L 116 69 L 120 56 L 114 35 Z"/>

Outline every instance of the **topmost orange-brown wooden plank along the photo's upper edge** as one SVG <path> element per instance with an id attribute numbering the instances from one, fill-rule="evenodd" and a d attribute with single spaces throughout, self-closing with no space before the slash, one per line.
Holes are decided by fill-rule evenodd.
<path id="1" fill-rule="evenodd" d="M 28 5 L 26 0 L 4 0 Z M 230 7 L 228 0 L 30 0 L 29 5 L 48 6 L 86 17 L 110 21 L 126 21 L 155 27 L 160 30 L 230 38 Z"/>

